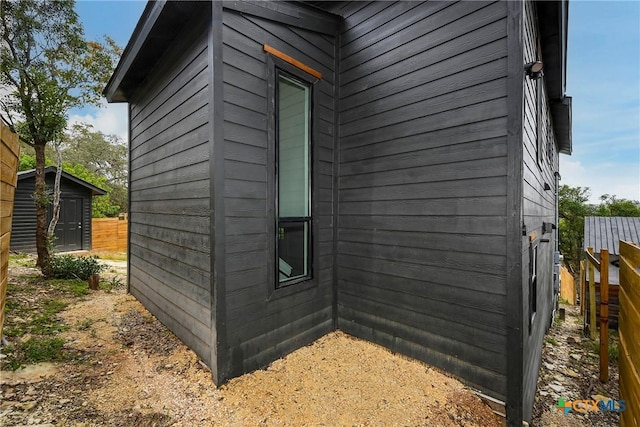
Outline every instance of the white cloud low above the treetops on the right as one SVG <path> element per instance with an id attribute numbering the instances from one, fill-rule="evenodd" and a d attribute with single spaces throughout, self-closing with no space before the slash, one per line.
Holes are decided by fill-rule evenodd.
<path id="1" fill-rule="evenodd" d="M 590 203 L 599 203 L 603 194 L 619 199 L 640 200 L 640 163 L 623 166 L 601 163 L 584 166 L 579 160 L 560 156 L 560 184 L 571 187 L 589 187 Z"/>

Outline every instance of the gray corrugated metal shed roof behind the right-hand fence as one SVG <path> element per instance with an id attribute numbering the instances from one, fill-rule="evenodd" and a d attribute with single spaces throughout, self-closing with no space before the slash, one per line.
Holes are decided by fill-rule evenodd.
<path id="1" fill-rule="evenodd" d="M 588 216 L 584 219 L 584 249 L 595 252 L 608 249 L 611 255 L 620 255 L 620 240 L 640 242 L 640 218 L 624 216 Z"/>

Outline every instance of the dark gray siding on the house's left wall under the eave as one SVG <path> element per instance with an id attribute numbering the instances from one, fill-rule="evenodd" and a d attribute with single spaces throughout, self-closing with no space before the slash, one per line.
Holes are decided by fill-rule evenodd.
<path id="1" fill-rule="evenodd" d="M 206 17 L 130 100 L 130 292 L 211 366 Z"/>

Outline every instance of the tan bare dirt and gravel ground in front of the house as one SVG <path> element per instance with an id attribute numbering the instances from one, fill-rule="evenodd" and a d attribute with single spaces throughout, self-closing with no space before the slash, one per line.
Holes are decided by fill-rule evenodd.
<path id="1" fill-rule="evenodd" d="M 1 425 L 502 425 L 459 381 L 341 332 L 217 388 L 123 289 L 76 299 L 60 318 L 73 360 L 0 372 Z"/>

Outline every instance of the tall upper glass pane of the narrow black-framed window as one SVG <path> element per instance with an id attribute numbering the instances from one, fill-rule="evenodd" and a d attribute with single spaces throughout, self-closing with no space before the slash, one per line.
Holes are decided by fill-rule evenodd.
<path id="1" fill-rule="evenodd" d="M 280 218 L 308 217 L 309 88 L 278 77 L 278 209 Z"/>

